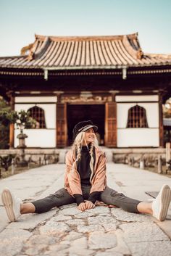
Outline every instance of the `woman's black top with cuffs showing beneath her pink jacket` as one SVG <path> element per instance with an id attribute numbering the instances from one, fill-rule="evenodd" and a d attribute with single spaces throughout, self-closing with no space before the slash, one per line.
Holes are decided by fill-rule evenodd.
<path id="1" fill-rule="evenodd" d="M 90 177 L 91 177 L 91 168 L 90 168 L 90 161 L 91 161 L 91 155 L 90 155 L 90 148 L 91 144 L 87 146 L 82 146 L 81 149 L 81 159 L 77 162 L 77 170 L 80 174 L 80 183 L 82 186 L 91 186 L 90 183 Z M 95 165 L 96 161 L 96 155 L 95 155 L 95 149 L 93 149 L 93 167 Z M 90 194 L 88 201 L 93 202 L 93 204 L 96 202 L 97 199 L 99 199 L 99 195 L 101 192 L 94 191 Z M 84 198 L 81 194 L 74 194 L 75 200 L 77 202 L 77 205 L 80 205 L 81 202 L 84 202 Z"/>

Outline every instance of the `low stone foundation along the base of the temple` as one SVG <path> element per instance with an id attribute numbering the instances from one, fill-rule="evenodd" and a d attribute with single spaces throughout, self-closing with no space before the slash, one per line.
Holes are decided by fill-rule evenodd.
<path id="1" fill-rule="evenodd" d="M 166 161 L 166 149 L 109 149 L 102 147 L 107 152 L 107 157 L 111 158 L 113 162 L 124 163 L 134 167 L 140 167 L 140 162 L 143 160 L 146 167 L 157 167 L 158 157 L 162 158 L 162 165 Z M 51 162 L 58 162 L 59 154 L 67 152 L 67 149 L 25 149 L 25 160 L 43 162 L 45 159 Z M 64 152 L 64 153 L 65 153 Z M 0 149 L 0 155 L 17 154 L 20 155 L 20 149 Z"/>

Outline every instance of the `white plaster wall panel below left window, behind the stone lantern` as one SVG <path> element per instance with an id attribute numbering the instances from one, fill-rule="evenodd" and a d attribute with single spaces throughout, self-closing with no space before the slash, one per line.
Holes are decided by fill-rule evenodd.
<path id="1" fill-rule="evenodd" d="M 17 134 L 19 130 L 14 131 L 14 147 L 18 145 Z M 28 147 L 54 148 L 56 147 L 55 129 L 25 129 L 24 133 L 28 135 L 25 144 Z"/>

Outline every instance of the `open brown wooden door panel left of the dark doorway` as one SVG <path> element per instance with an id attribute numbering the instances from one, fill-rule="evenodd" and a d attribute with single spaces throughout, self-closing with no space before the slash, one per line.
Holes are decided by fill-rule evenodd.
<path id="1" fill-rule="evenodd" d="M 67 146 L 67 103 L 57 103 L 57 147 Z"/>

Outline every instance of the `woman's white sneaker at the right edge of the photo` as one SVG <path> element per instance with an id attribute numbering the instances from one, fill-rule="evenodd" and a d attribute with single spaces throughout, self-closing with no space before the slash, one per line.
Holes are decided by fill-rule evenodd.
<path id="1" fill-rule="evenodd" d="M 156 199 L 152 202 L 153 216 L 157 220 L 163 221 L 167 216 L 167 210 L 170 206 L 171 189 L 168 185 L 163 185 Z"/>

